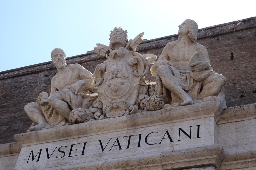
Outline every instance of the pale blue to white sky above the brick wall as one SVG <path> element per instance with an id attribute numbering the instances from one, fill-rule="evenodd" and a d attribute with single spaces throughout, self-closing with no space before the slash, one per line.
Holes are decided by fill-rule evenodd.
<path id="1" fill-rule="evenodd" d="M 243 3 L 243 4 L 241 4 Z M 128 39 L 177 34 L 195 20 L 199 29 L 256 16 L 256 1 L 0 0 L 0 71 L 51 60 L 60 47 L 66 56 L 84 54 L 96 43 L 109 44 L 121 26 Z"/>

